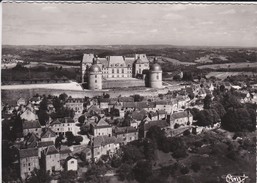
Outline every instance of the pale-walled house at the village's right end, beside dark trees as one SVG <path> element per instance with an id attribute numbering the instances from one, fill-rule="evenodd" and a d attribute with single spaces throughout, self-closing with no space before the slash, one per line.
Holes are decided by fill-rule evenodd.
<path id="1" fill-rule="evenodd" d="M 170 128 L 174 129 L 176 126 L 191 125 L 193 122 L 193 115 L 189 111 L 176 112 L 170 116 Z"/>

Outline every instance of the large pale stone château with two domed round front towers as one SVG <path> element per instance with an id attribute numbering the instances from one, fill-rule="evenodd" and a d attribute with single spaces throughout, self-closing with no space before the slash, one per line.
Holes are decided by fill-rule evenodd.
<path id="1" fill-rule="evenodd" d="M 89 90 L 101 90 L 103 81 L 126 82 L 132 78 L 144 80 L 146 87 L 162 88 L 161 66 L 157 64 L 157 59 L 151 64 L 146 54 L 105 58 L 99 58 L 92 53 L 84 54 L 81 62 L 81 78 L 82 83 L 87 83 Z"/>

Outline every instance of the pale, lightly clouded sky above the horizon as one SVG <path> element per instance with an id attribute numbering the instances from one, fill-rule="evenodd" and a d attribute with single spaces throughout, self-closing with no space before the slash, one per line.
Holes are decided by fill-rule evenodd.
<path id="1" fill-rule="evenodd" d="M 2 3 L 4 45 L 257 47 L 257 4 Z"/>

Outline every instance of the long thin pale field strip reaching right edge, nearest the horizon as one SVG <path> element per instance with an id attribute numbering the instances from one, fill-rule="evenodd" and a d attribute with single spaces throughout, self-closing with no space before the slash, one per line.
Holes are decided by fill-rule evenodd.
<path id="1" fill-rule="evenodd" d="M 241 63 L 227 63 L 227 64 L 209 64 L 198 66 L 198 69 L 239 69 L 239 68 L 256 68 L 257 62 L 241 62 Z"/>

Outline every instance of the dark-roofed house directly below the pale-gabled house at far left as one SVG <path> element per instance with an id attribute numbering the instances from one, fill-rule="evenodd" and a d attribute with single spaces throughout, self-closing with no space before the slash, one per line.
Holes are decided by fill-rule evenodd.
<path id="1" fill-rule="evenodd" d="M 41 136 L 42 129 L 41 125 L 38 120 L 33 120 L 33 121 L 26 121 L 24 120 L 22 122 L 22 132 L 23 136 L 28 135 L 28 133 L 35 133 L 38 137 Z"/>

